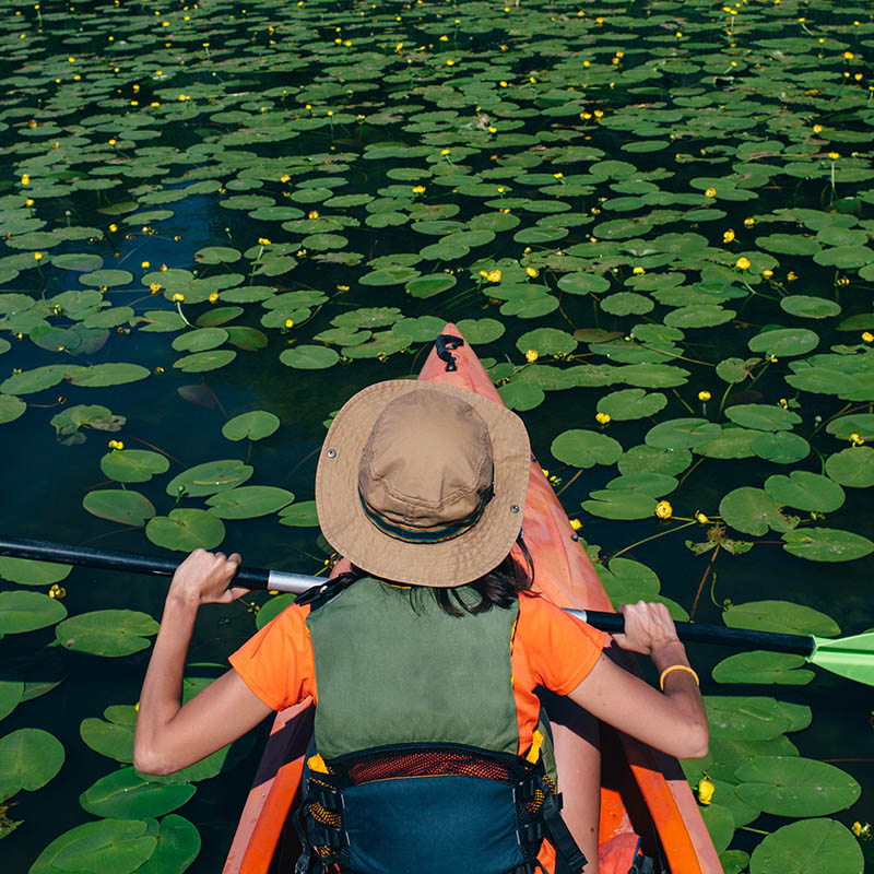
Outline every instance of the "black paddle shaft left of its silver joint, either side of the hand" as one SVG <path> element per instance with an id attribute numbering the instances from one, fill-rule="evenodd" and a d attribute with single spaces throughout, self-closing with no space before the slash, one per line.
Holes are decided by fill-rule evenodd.
<path id="1" fill-rule="evenodd" d="M 78 565 L 79 567 L 127 570 L 131 574 L 151 574 L 157 577 L 172 577 L 179 566 L 179 562 L 172 558 L 154 558 L 151 555 L 137 553 L 94 550 L 91 546 L 76 546 L 69 543 L 13 538 L 0 538 L 0 555 Z M 270 571 L 268 570 L 241 567 L 237 570 L 234 581 L 248 589 L 267 589 Z"/>

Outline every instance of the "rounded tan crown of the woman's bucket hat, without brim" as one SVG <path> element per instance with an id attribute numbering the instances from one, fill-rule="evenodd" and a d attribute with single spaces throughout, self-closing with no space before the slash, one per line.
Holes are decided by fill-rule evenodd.
<path id="1" fill-rule="evenodd" d="M 389 403 L 362 454 L 358 489 L 392 522 L 428 529 L 474 513 L 492 488 L 488 426 L 451 394 L 412 391 Z"/>

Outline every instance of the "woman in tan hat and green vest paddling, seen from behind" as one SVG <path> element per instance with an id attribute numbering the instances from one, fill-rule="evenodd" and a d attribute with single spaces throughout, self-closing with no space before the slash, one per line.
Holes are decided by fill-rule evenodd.
<path id="1" fill-rule="evenodd" d="M 322 532 L 353 571 L 299 599 L 180 707 L 198 607 L 246 591 L 227 588 L 239 555 L 192 553 L 143 684 L 137 767 L 178 770 L 311 696 L 299 871 L 552 871 L 556 847 L 559 867 L 582 870 L 535 689 L 677 757 L 705 755 L 707 720 L 663 605 L 622 607 L 626 630 L 613 638 L 650 656 L 660 693 L 603 654 L 606 635 L 536 597 L 520 532 L 529 464 L 521 420 L 476 394 L 406 380 L 356 394 L 316 477 Z M 597 751 L 592 763 L 589 828 L 576 835 L 587 874 L 598 870 Z"/>

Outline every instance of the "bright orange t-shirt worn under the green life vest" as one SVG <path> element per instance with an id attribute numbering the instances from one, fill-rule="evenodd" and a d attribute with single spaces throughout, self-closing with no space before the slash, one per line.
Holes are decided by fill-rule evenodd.
<path id="1" fill-rule="evenodd" d="M 308 615 L 308 604 L 292 605 L 231 657 L 232 666 L 246 685 L 273 710 L 291 707 L 308 696 L 318 705 Z M 544 598 L 520 595 L 511 647 L 519 755 L 531 746 L 540 719 L 534 689 L 543 686 L 558 695 L 572 692 L 594 668 L 607 640 L 603 631 Z"/>

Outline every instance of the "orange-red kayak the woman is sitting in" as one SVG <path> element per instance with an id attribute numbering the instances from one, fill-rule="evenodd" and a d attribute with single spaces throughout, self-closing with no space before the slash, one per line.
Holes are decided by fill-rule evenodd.
<path id="1" fill-rule="evenodd" d="M 473 350 L 454 324 L 447 324 L 435 343 L 420 379 L 447 382 L 503 403 Z M 589 557 L 568 522 L 541 465 L 532 458 L 523 519 L 525 543 L 534 560 L 534 589 L 560 607 L 613 611 Z M 347 567 L 343 562 L 334 568 Z M 619 659 L 636 670 L 627 653 Z M 279 712 L 267 742 L 255 783 L 237 826 L 224 874 L 288 872 L 299 854 L 290 814 L 299 800 L 304 758 L 312 732 L 309 700 Z M 574 710 L 578 711 L 579 730 Z M 591 717 L 567 702 L 563 725 L 556 727 L 556 760 L 564 817 L 575 822 L 575 775 L 591 747 L 583 727 Z M 641 718 L 645 718 L 641 714 Z M 704 825 L 698 805 L 676 759 L 602 724 L 601 874 L 627 874 L 639 846 L 657 861 L 656 871 L 673 874 L 719 874 L 722 866 Z M 578 793 L 579 794 L 579 793 Z"/>

